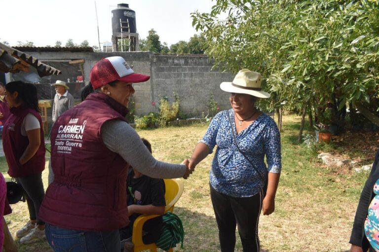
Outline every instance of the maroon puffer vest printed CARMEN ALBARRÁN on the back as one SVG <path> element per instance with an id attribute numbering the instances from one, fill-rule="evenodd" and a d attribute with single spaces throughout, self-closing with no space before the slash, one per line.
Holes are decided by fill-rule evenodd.
<path id="1" fill-rule="evenodd" d="M 104 94 L 91 94 L 63 113 L 51 130 L 49 185 L 39 218 L 62 228 L 108 231 L 129 223 L 127 162 L 109 150 L 101 126 L 125 120 L 127 109 Z M 120 132 L 122 134 L 122 132 Z"/>

